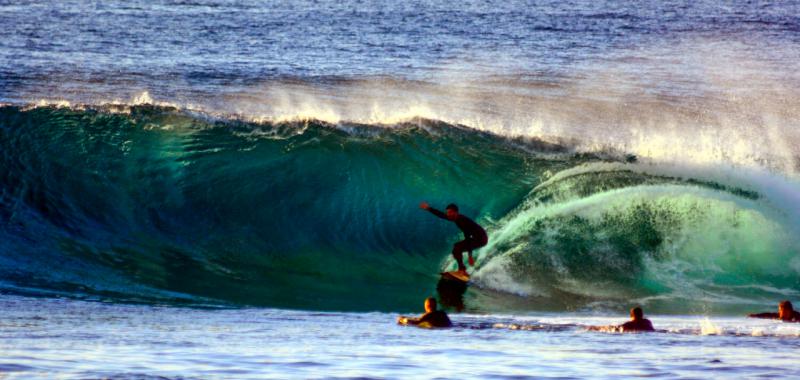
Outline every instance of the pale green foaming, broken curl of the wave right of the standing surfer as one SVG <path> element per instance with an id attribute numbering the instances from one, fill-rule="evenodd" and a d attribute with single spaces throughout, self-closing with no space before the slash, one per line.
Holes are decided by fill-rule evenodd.
<path id="1" fill-rule="evenodd" d="M 796 184 L 757 175 L 726 184 L 707 180 L 716 170 L 698 180 L 683 176 L 697 171 L 663 169 L 588 164 L 559 173 L 498 223 L 474 278 L 529 305 L 560 307 L 734 312 L 798 295 L 796 203 L 774 188 Z"/>

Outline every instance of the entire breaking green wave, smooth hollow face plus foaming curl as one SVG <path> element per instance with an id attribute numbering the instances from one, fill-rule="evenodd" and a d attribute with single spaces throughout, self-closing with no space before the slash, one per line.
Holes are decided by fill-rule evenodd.
<path id="1" fill-rule="evenodd" d="M 798 213 L 781 203 L 798 187 L 769 174 L 720 180 L 429 120 L 114 111 L 0 108 L 5 291 L 417 308 L 460 239 L 423 200 L 489 230 L 477 310 L 739 310 L 800 289 Z"/>

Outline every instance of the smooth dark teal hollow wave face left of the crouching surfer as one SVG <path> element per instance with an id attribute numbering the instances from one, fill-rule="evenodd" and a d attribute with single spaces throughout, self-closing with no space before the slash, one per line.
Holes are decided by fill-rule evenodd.
<path id="1" fill-rule="evenodd" d="M 452 236 L 418 202 L 501 217 L 544 166 L 496 136 L 423 120 L 334 128 L 108 111 L 2 108 L 6 287 L 416 306 Z"/>

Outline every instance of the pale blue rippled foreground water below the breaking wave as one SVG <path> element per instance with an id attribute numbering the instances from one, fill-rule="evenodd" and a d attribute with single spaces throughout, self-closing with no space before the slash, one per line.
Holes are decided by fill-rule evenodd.
<path id="1" fill-rule="evenodd" d="M 10 378 L 794 377 L 800 326 L 649 316 L 650 334 L 587 332 L 622 316 L 453 315 L 423 330 L 387 313 L 202 310 L 3 297 Z"/>

